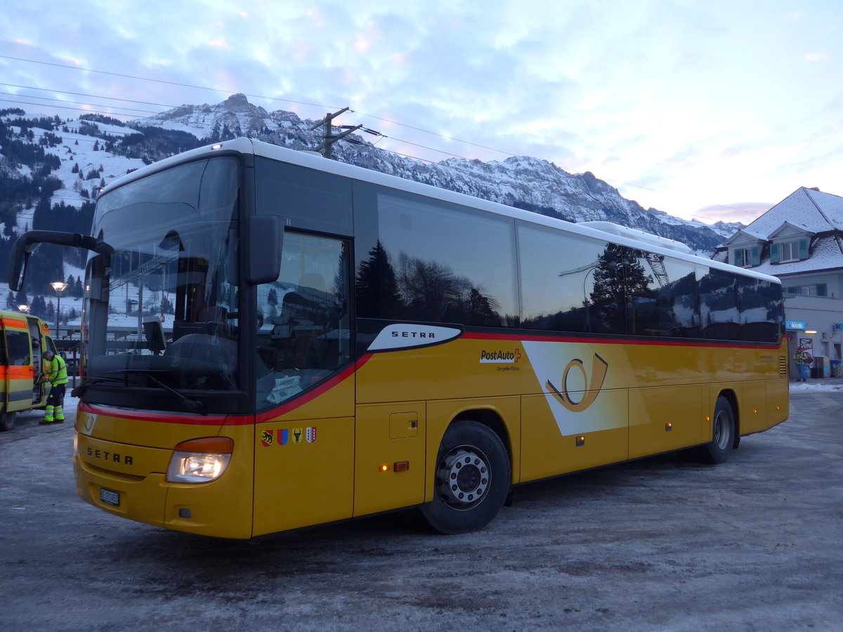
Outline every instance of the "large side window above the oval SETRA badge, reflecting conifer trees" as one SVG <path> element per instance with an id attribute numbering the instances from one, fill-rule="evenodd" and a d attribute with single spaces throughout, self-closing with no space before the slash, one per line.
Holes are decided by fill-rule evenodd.
<path id="1" fill-rule="evenodd" d="M 501 326 L 517 320 L 513 220 L 381 190 L 379 235 L 358 253 L 358 314 Z"/>

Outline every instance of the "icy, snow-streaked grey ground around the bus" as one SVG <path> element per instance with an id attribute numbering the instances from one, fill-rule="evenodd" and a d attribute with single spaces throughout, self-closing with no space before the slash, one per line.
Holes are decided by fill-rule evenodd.
<path id="1" fill-rule="evenodd" d="M 525 485 L 481 533 L 412 511 L 227 541 L 78 500 L 72 426 L 0 434 L 0 629 L 843 629 L 843 391 L 728 463 Z"/>

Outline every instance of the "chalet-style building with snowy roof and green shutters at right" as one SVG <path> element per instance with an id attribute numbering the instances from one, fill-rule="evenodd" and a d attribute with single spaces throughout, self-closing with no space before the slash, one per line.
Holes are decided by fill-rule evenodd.
<path id="1" fill-rule="evenodd" d="M 711 259 L 781 279 L 792 376 L 800 344 L 814 357 L 813 377 L 840 371 L 843 197 L 799 188 L 717 246 Z"/>

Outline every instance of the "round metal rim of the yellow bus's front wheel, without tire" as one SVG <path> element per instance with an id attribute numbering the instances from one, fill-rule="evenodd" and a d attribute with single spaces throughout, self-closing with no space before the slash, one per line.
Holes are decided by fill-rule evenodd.
<path id="1" fill-rule="evenodd" d="M 475 446 L 454 447 L 437 468 L 437 490 L 443 502 L 464 511 L 486 498 L 491 468 L 486 455 Z"/>

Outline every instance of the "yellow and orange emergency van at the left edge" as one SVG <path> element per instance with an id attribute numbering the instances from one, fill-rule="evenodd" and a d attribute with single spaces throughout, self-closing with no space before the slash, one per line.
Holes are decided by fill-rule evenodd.
<path id="1" fill-rule="evenodd" d="M 19 412 L 46 404 L 41 354 L 56 345 L 44 321 L 23 312 L 0 311 L 0 335 L 0 431 L 9 431 Z"/>

